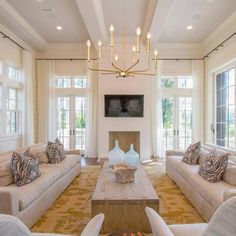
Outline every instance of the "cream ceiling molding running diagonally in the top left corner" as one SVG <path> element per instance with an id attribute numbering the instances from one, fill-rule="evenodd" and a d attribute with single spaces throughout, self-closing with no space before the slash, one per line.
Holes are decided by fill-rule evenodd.
<path id="1" fill-rule="evenodd" d="M 20 16 L 15 9 L 6 2 L 6 0 L 0 1 L 0 15 L 3 17 L 8 25 L 5 25 L 10 31 L 22 38 L 26 43 L 36 50 L 45 50 L 47 42 L 38 34 L 33 27 Z M 3 22 L 4 25 L 4 22 Z M 21 31 L 24 37 L 17 34 L 17 31 Z"/>

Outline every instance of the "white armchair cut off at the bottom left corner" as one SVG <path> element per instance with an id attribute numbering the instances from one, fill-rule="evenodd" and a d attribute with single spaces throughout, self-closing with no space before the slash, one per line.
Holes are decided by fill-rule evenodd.
<path id="1" fill-rule="evenodd" d="M 104 214 L 96 215 L 84 228 L 81 236 L 98 236 L 104 220 Z M 1 236 L 66 236 L 62 234 L 31 233 L 15 216 L 0 214 Z M 69 236 L 69 235 L 67 235 Z"/>

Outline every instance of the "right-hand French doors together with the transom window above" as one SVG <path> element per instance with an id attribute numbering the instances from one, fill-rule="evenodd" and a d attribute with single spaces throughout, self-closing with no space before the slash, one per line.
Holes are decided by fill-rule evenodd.
<path id="1" fill-rule="evenodd" d="M 184 150 L 192 142 L 192 76 L 163 76 L 161 87 L 164 148 Z"/>

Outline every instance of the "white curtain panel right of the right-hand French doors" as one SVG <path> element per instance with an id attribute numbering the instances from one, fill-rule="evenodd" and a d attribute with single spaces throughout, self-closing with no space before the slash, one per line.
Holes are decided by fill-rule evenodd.
<path id="1" fill-rule="evenodd" d="M 192 62 L 193 74 L 193 142 L 204 142 L 204 61 Z"/>

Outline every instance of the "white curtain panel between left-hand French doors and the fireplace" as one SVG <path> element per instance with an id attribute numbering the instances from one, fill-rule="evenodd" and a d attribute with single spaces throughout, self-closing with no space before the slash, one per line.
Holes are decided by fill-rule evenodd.
<path id="1" fill-rule="evenodd" d="M 97 62 L 92 61 L 91 64 Z M 94 65 L 91 65 L 94 67 Z M 87 112 L 85 155 L 98 157 L 98 73 L 87 71 Z"/>

